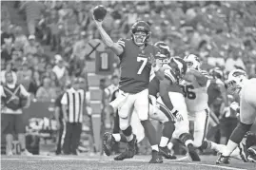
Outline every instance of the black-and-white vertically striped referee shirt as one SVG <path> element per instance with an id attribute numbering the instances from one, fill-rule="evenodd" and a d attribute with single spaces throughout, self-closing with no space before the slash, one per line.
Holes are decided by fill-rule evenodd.
<path id="1" fill-rule="evenodd" d="M 82 123 L 83 121 L 83 107 L 85 100 L 85 91 L 83 89 L 75 90 L 69 88 L 64 93 L 61 104 L 68 106 L 68 122 L 69 123 Z"/>

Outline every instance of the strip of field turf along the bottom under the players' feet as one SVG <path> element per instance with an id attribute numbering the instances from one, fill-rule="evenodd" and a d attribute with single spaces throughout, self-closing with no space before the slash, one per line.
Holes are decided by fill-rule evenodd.
<path id="1" fill-rule="evenodd" d="M 107 156 L 2 156 L 2 170 L 256 170 L 256 163 L 231 160 L 229 165 L 216 165 L 215 156 L 202 156 L 201 162 L 186 160 L 148 164 L 149 156 L 135 156 L 126 161 L 113 161 Z"/>

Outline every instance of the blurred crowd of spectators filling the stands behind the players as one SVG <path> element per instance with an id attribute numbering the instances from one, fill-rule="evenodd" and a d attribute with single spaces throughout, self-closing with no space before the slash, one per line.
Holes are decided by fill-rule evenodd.
<path id="1" fill-rule="evenodd" d="M 1 2 L 1 83 L 17 83 L 40 102 L 53 102 L 73 77 L 87 91 L 87 44 L 100 39 L 90 10 L 108 8 L 110 37 L 130 36 L 137 20 L 148 21 L 151 41 L 167 42 L 173 56 L 200 56 L 204 67 L 243 68 L 256 75 L 256 2 L 219 1 L 15 1 Z M 13 22 L 17 11 L 24 23 Z M 118 66 L 118 65 L 115 65 Z M 114 73 L 118 75 L 118 67 Z"/>

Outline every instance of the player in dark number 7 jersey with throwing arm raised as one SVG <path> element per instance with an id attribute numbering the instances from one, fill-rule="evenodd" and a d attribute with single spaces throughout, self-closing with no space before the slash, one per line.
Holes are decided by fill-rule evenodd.
<path id="1" fill-rule="evenodd" d="M 136 153 L 136 138 L 132 134 L 130 126 L 131 113 L 135 110 L 152 147 L 152 159 L 149 162 L 162 163 L 163 159 L 158 154 L 156 131 L 148 120 L 148 84 L 151 68 L 157 75 L 162 73 L 160 67 L 154 63 L 154 56 L 158 49 L 148 43 L 150 28 L 146 22 L 138 21 L 131 28 L 131 39 L 120 39 L 117 43 L 114 43 L 102 27 L 102 21 L 95 20 L 94 16 L 93 20 L 103 42 L 120 59 L 119 94 L 111 105 L 118 107 L 120 129 L 128 141 L 128 147 L 125 151 L 126 157 L 132 158 Z"/>

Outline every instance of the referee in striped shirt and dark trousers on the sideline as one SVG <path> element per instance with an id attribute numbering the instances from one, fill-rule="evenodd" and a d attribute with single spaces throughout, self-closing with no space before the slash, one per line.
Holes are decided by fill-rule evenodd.
<path id="1" fill-rule="evenodd" d="M 75 78 L 61 100 L 65 122 L 63 130 L 63 153 L 65 155 L 77 155 L 76 151 L 82 133 L 85 94 L 85 91 L 80 88 L 79 79 Z"/>

